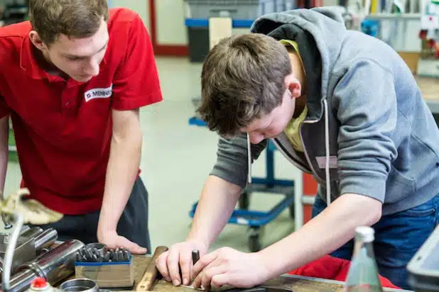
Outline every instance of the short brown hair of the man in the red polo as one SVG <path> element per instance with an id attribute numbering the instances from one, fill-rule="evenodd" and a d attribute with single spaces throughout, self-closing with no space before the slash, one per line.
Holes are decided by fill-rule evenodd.
<path id="1" fill-rule="evenodd" d="M 107 0 L 29 0 L 29 18 L 40 39 L 52 44 L 58 35 L 87 38 L 108 20 Z"/>

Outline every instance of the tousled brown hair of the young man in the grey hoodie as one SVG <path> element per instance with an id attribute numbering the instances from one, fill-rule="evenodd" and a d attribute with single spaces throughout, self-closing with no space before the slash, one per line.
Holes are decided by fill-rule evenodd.
<path id="1" fill-rule="evenodd" d="M 224 38 L 202 66 L 197 112 L 210 130 L 237 135 L 281 104 L 288 74 L 288 50 L 274 38 L 259 33 Z"/>

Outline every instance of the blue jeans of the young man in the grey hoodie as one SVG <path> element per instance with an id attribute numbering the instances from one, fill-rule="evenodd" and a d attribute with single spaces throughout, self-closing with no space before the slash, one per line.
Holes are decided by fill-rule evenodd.
<path id="1" fill-rule="evenodd" d="M 326 208 L 319 196 L 315 197 L 313 217 Z M 379 274 L 394 285 L 411 289 L 407 283 L 406 266 L 433 232 L 439 219 L 439 195 L 420 206 L 399 213 L 384 215 L 373 225 L 375 230 L 374 254 Z M 349 240 L 332 257 L 352 259 L 354 240 Z"/>

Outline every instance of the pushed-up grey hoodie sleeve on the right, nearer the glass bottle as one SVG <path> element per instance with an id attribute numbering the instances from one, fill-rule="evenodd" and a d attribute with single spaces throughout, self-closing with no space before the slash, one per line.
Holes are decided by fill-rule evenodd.
<path id="1" fill-rule="evenodd" d="M 357 193 L 384 202 L 396 146 L 396 94 L 391 72 L 372 60 L 354 62 L 334 89 L 340 120 L 340 194 Z"/>

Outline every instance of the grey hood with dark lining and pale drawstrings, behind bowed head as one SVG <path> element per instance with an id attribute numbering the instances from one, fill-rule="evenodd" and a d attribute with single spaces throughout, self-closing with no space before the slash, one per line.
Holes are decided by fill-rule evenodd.
<path id="1" fill-rule="evenodd" d="M 276 40 L 294 40 L 306 74 L 308 116 L 304 123 L 316 123 L 325 118 L 325 182 L 327 202 L 330 203 L 330 110 L 327 88 L 330 72 L 340 56 L 347 29 L 340 12 L 335 8 L 296 9 L 261 16 L 251 26 L 251 33 L 262 33 Z M 331 128 L 333 128 L 332 125 Z M 331 132 L 332 133 L 332 132 Z M 249 141 L 249 137 L 247 136 Z M 249 183 L 251 159 L 249 148 Z"/>

